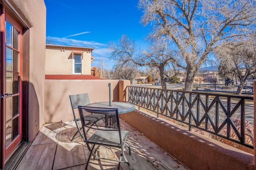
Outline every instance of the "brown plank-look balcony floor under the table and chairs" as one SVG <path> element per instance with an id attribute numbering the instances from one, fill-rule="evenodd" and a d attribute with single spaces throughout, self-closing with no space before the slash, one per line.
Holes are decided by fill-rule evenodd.
<path id="1" fill-rule="evenodd" d="M 149 141 L 128 123 L 120 121 L 122 129 L 128 130 L 126 141 L 131 155 L 126 150 L 130 166 L 121 163 L 121 170 L 187 170 L 177 160 Z M 84 170 L 89 151 L 79 136 L 70 141 L 77 131 L 74 121 L 46 124 L 18 164 L 18 170 Z M 90 131 L 89 131 L 90 133 Z M 101 147 L 98 155 L 118 159 L 120 150 Z M 93 160 L 89 170 L 115 170 L 117 162 Z"/>

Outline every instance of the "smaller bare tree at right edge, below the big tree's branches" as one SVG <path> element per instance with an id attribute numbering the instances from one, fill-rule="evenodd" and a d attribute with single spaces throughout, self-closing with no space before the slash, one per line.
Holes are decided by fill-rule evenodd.
<path id="1" fill-rule="evenodd" d="M 248 36 L 237 42 L 226 42 L 215 49 L 217 57 L 224 63 L 225 72 L 234 74 L 240 85 L 236 93 L 241 94 L 248 77 L 256 73 L 256 41 L 255 36 Z"/>

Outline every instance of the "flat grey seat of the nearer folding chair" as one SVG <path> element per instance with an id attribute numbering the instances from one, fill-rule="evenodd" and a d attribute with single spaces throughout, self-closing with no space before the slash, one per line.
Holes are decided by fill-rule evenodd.
<path id="1" fill-rule="evenodd" d="M 121 131 L 121 139 L 123 140 L 129 131 Z M 85 142 L 94 142 L 101 144 L 111 144 L 120 146 L 120 138 L 118 131 L 96 131 L 89 139 Z"/>

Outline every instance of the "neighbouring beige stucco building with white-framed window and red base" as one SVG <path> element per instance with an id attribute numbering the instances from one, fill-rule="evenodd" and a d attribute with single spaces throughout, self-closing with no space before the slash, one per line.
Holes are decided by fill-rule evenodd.
<path id="1" fill-rule="evenodd" d="M 91 77 L 91 63 L 95 59 L 92 50 L 92 47 L 47 44 L 46 79 L 95 79 Z"/>

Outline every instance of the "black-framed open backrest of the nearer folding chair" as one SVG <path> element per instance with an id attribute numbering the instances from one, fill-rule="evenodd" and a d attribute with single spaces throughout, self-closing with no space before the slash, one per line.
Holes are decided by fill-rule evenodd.
<path id="1" fill-rule="evenodd" d="M 78 110 L 79 110 L 79 115 L 80 115 L 80 119 L 81 119 L 81 123 L 82 123 L 84 132 L 85 132 L 84 127 L 95 129 L 97 131 L 102 131 L 102 134 L 106 133 L 106 131 L 118 131 L 118 132 L 116 132 L 117 136 L 110 137 L 110 138 L 117 139 L 117 140 L 115 140 L 116 141 L 115 143 L 112 143 L 113 145 L 108 143 L 110 140 L 109 141 L 106 140 L 106 139 L 108 139 L 108 136 L 104 137 L 104 140 L 98 139 L 98 142 L 97 142 L 97 141 L 88 140 L 89 138 L 87 137 L 87 134 L 84 133 L 84 137 L 86 139 L 85 142 L 94 143 L 94 144 L 96 143 L 98 145 L 108 145 L 108 146 L 121 145 L 122 139 L 121 139 L 120 121 L 119 121 L 119 115 L 118 115 L 117 108 L 111 109 L 111 108 L 102 108 L 102 107 L 78 106 Z M 94 123 L 88 124 L 84 121 L 84 114 L 86 114 L 86 112 L 108 115 L 108 117 L 115 119 L 115 121 L 114 121 L 115 123 L 114 123 L 114 125 L 111 123 L 106 123 L 106 122 L 97 124 L 97 125 Z M 105 119 L 105 121 L 108 121 L 108 119 Z"/>

